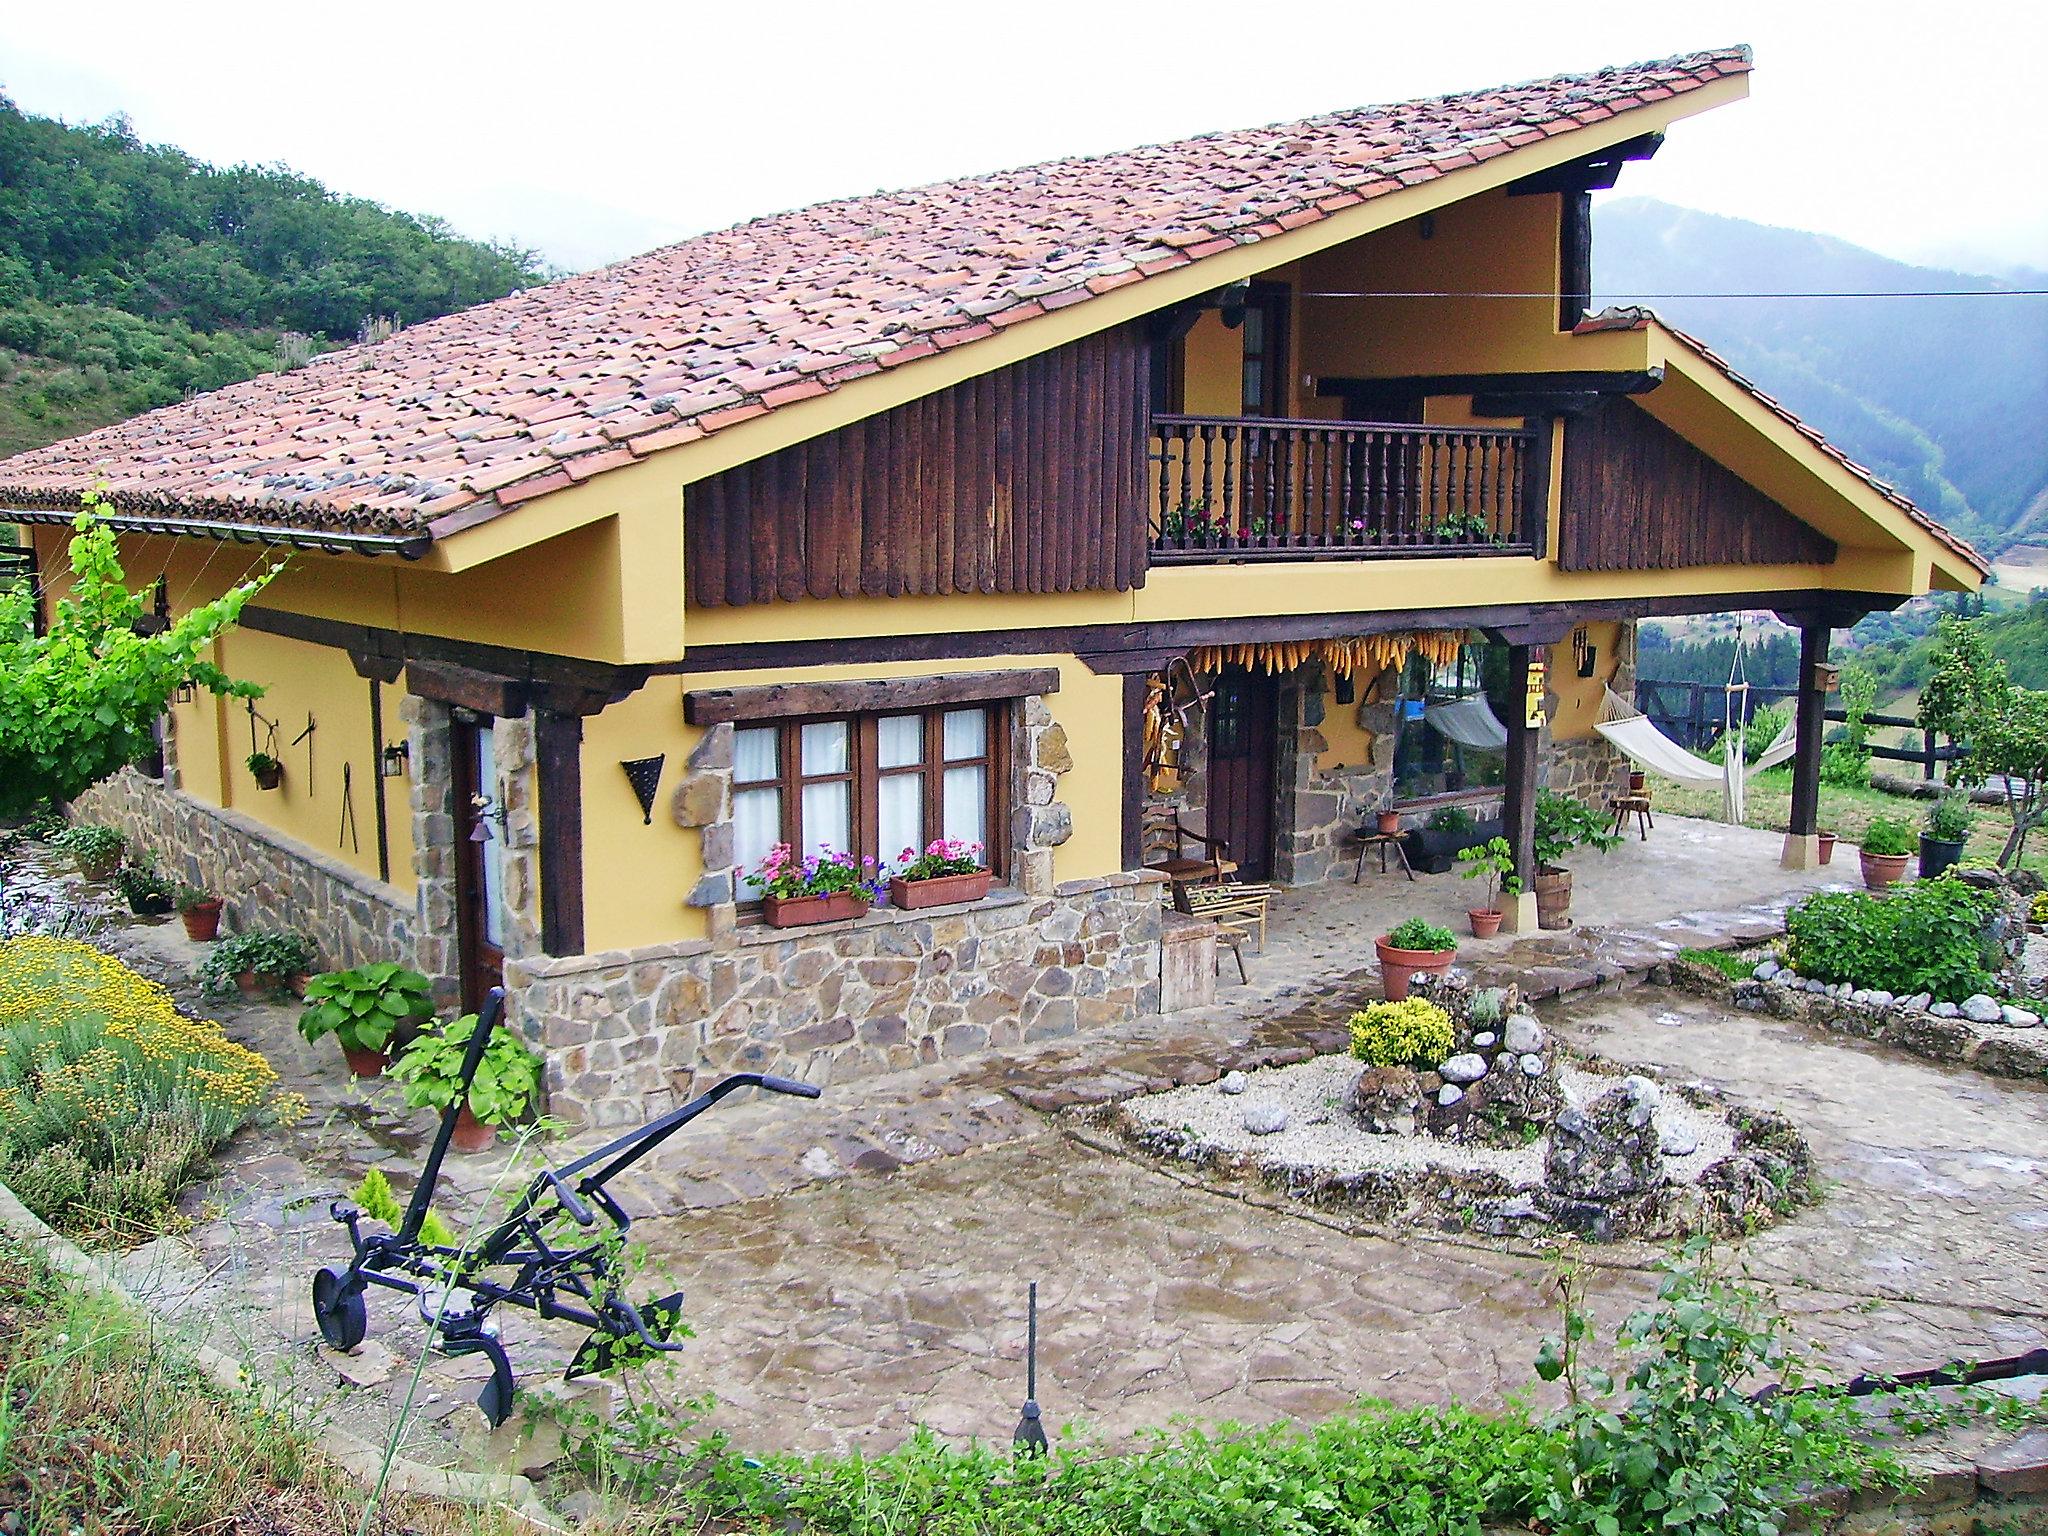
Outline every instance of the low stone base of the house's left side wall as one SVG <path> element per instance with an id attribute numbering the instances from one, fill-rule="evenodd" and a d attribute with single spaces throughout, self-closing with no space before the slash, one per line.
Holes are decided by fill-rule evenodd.
<path id="1" fill-rule="evenodd" d="M 80 819 L 119 827 L 180 881 L 227 897 L 229 930 L 307 934 L 322 965 L 414 965 L 420 920 L 397 889 L 272 831 L 262 821 L 166 788 L 133 768 L 74 803 Z"/>

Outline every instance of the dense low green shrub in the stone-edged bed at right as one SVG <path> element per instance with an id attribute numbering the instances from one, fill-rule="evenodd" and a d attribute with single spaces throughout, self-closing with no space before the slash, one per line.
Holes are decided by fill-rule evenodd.
<path id="1" fill-rule="evenodd" d="M 1802 977 L 1946 1001 L 1991 991 L 1999 963 L 1989 924 L 1999 899 L 1962 881 L 1823 891 L 1786 913 L 1786 958 Z"/>

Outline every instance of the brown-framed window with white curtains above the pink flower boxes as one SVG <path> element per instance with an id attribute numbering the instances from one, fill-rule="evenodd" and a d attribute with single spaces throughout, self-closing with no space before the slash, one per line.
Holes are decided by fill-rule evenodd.
<path id="1" fill-rule="evenodd" d="M 897 868 L 936 838 L 979 842 L 1001 870 L 1004 705 L 743 725 L 733 731 L 741 877 L 786 842 Z M 745 887 L 743 887 L 745 889 Z"/>

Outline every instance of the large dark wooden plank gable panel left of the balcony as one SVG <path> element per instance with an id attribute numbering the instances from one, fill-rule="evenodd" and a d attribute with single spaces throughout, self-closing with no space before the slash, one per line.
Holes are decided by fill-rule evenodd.
<path id="1" fill-rule="evenodd" d="M 1141 586 L 1147 387 L 1124 326 L 698 481 L 690 600 Z"/>

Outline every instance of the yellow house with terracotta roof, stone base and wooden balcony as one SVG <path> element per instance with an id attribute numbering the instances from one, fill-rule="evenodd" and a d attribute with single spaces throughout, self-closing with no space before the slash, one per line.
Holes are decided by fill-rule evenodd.
<path id="1" fill-rule="evenodd" d="M 178 702 L 84 809 L 242 926 L 502 979 L 596 1124 L 1159 1006 L 1159 795 L 1284 885 L 1386 803 L 1499 805 L 1528 870 L 1538 780 L 1612 793 L 1647 614 L 1802 629 L 1806 860 L 1829 631 L 1985 567 L 1702 342 L 1589 313 L 1589 193 L 1749 68 L 827 203 L 20 455 L 41 569 L 92 485 L 172 610 L 289 555 L 217 655 L 262 700 Z M 1501 752 L 1423 729 L 1475 698 Z M 940 834 L 985 901 L 750 903 L 774 842 Z"/>

